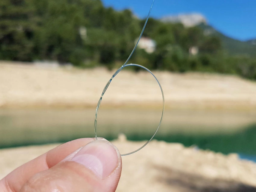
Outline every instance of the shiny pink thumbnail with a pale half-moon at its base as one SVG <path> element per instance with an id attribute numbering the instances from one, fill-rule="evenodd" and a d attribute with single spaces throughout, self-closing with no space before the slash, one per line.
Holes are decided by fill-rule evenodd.
<path id="1" fill-rule="evenodd" d="M 70 161 L 82 164 L 103 179 L 120 165 L 120 159 L 120 153 L 113 144 L 97 140 L 85 145 Z"/>

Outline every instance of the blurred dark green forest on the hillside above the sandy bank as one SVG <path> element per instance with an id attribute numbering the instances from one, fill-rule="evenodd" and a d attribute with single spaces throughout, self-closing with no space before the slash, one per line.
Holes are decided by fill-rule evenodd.
<path id="1" fill-rule="evenodd" d="M 145 20 L 100 0 L 1 0 L 0 60 L 55 60 L 77 67 L 120 67 Z M 148 20 L 143 37 L 155 51 L 137 48 L 131 63 L 151 70 L 237 74 L 256 80 L 256 56 L 229 54 L 219 36 L 200 26 Z M 190 49 L 196 48 L 196 54 Z M 255 54 L 256 55 L 256 54 Z"/>

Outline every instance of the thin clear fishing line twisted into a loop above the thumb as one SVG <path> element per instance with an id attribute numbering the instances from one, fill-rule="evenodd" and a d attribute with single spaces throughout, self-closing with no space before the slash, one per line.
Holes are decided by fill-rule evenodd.
<path id="1" fill-rule="evenodd" d="M 163 110 L 162 110 L 162 116 L 161 116 L 160 122 L 159 122 L 159 124 L 158 124 L 158 127 L 157 127 L 157 129 L 155 130 L 153 136 L 152 136 L 142 147 L 140 147 L 139 149 L 137 149 L 137 150 L 135 150 L 135 151 L 132 151 L 132 152 L 130 152 L 130 153 L 121 154 L 121 156 L 133 154 L 133 153 L 135 153 L 135 152 L 141 150 L 143 147 L 145 147 L 145 146 L 154 138 L 155 134 L 157 133 L 157 131 L 158 131 L 160 125 L 161 125 L 161 122 L 162 122 L 163 116 L 164 116 L 164 92 L 163 92 L 163 89 L 162 89 L 161 84 L 160 84 L 160 82 L 158 81 L 158 79 L 155 77 L 155 75 L 154 75 L 149 69 L 147 69 L 146 67 L 143 67 L 142 65 L 133 64 L 133 63 L 127 64 L 128 61 L 130 60 L 130 58 L 132 57 L 132 55 L 133 55 L 133 53 L 134 53 L 134 51 L 135 51 L 135 49 L 136 49 L 136 47 L 137 47 L 137 45 L 138 45 L 138 43 L 139 43 L 139 40 L 141 39 L 141 36 L 142 36 L 142 34 L 143 34 L 143 32 L 144 32 L 144 29 L 145 29 L 145 27 L 146 27 L 146 24 L 147 24 L 147 22 L 148 22 L 148 18 L 149 18 L 149 15 L 150 15 L 150 13 L 151 13 L 151 10 L 152 10 L 154 1 L 155 1 L 155 0 L 153 0 L 153 2 L 152 2 L 152 4 L 151 4 L 150 10 L 149 10 L 149 12 L 148 12 L 147 19 L 146 19 L 145 24 L 144 24 L 144 26 L 143 26 L 143 28 L 142 28 L 142 31 L 141 31 L 140 36 L 139 36 L 139 39 L 138 39 L 138 41 L 136 42 L 136 45 L 135 45 L 134 48 L 133 48 L 133 51 L 131 52 L 131 54 L 130 54 L 130 56 L 128 57 L 128 59 L 126 60 L 126 62 L 113 74 L 113 76 L 111 77 L 111 79 L 107 82 L 105 88 L 104 88 L 103 91 L 102 91 L 101 97 L 100 97 L 100 99 L 99 99 L 99 101 L 98 101 L 98 104 L 97 104 L 97 107 L 96 107 L 96 114 L 95 114 L 95 121 L 94 121 L 94 132 L 95 132 L 95 139 L 98 140 L 98 137 L 97 137 L 97 117 L 98 117 L 98 111 L 99 111 L 99 108 L 100 108 L 100 104 L 101 104 L 101 101 L 102 101 L 102 97 L 103 97 L 103 95 L 105 94 L 105 92 L 107 91 L 108 86 L 110 85 L 112 79 L 113 79 L 124 67 L 137 66 L 137 67 L 141 67 L 142 69 L 147 70 L 147 71 L 155 78 L 155 80 L 157 81 L 157 83 L 158 83 L 158 85 L 159 85 L 159 87 L 160 87 L 160 89 L 161 89 L 161 93 L 162 93 L 162 97 L 163 97 Z"/>

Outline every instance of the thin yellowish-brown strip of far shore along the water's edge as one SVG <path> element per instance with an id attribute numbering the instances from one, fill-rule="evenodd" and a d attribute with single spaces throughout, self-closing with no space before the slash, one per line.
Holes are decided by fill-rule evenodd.
<path id="1" fill-rule="evenodd" d="M 7 103 L 2 104 L 0 109 L 96 109 L 97 104 L 88 103 Z M 162 106 L 159 104 L 145 103 L 145 102 L 124 102 L 124 103 L 111 103 L 108 102 L 103 109 L 161 109 Z M 214 110 L 214 111 L 251 111 L 256 112 L 256 104 L 250 101 L 230 101 L 230 100 L 219 100 L 219 101 L 169 101 L 165 102 L 164 108 L 167 110 Z"/>

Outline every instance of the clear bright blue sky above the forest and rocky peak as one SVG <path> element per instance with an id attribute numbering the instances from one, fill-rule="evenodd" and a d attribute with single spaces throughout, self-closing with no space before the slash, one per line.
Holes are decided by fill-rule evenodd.
<path id="1" fill-rule="evenodd" d="M 131 9 L 146 17 L 151 0 L 102 0 L 116 10 Z M 161 18 L 181 13 L 201 13 L 208 23 L 225 35 L 239 39 L 256 39 L 256 0 L 155 0 L 151 17 Z"/>

